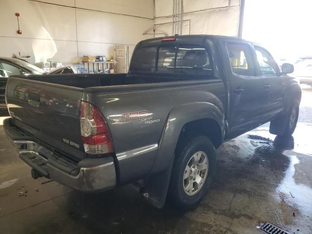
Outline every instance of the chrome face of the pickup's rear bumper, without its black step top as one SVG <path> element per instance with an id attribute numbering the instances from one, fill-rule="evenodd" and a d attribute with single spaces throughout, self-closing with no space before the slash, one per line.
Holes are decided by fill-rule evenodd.
<path id="1" fill-rule="evenodd" d="M 86 164 L 92 166 L 78 167 L 78 175 L 70 175 L 57 168 L 55 161 L 54 163 L 50 161 L 50 156 L 53 155 L 53 152 L 36 142 L 13 140 L 13 143 L 24 162 L 42 176 L 49 177 L 60 184 L 80 191 L 109 190 L 116 186 L 117 179 L 113 157 L 106 157 L 106 162 L 103 164 L 97 164 L 97 162 L 103 162 L 103 158 L 82 159 L 79 162 L 80 165 L 83 165 L 83 160 L 85 160 L 87 161 Z M 43 154 L 45 157 L 40 154 Z"/>

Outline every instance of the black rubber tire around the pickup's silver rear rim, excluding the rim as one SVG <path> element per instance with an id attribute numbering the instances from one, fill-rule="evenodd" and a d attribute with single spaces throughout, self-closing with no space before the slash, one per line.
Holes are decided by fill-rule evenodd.
<path id="1" fill-rule="evenodd" d="M 187 195 L 183 187 L 185 167 L 191 157 L 198 151 L 204 152 L 208 157 L 208 173 L 198 192 L 195 195 Z M 168 189 L 169 201 L 181 211 L 194 209 L 207 194 L 215 175 L 215 168 L 215 146 L 211 140 L 206 136 L 199 136 L 188 141 L 183 149 L 176 150 Z"/>

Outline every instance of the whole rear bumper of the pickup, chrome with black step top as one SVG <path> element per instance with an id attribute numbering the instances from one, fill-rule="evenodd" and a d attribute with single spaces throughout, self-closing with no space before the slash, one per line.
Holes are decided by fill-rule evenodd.
<path id="1" fill-rule="evenodd" d="M 116 186 L 112 156 L 85 158 L 75 163 L 40 145 L 35 137 L 17 129 L 11 120 L 3 121 L 5 133 L 11 138 L 20 158 L 40 175 L 80 191 L 103 191 Z"/>

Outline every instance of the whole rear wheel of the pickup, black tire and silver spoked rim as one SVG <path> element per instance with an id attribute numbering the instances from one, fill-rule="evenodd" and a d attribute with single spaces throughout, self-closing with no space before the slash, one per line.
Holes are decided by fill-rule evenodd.
<path id="1" fill-rule="evenodd" d="M 177 149 L 168 196 L 178 209 L 193 209 L 203 199 L 212 184 L 215 161 L 215 147 L 206 136 Z"/>

